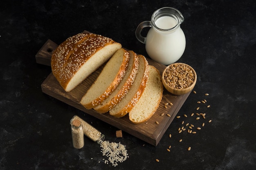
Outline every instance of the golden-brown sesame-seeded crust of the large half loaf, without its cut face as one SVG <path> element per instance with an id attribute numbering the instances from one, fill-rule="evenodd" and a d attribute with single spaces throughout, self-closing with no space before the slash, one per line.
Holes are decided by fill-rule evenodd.
<path id="1" fill-rule="evenodd" d="M 93 33 L 79 33 L 67 38 L 52 54 L 51 68 L 53 75 L 66 92 L 71 91 L 74 87 L 67 89 L 67 86 L 76 72 L 95 52 L 113 43 L 116 42 L 108 37 Z M 84 77 L 83 80 L 85 78 L 87 77 Z"/>

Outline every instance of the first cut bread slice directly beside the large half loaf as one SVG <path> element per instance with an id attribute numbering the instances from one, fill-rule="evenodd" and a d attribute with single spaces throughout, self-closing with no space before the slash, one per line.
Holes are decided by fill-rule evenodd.
<path id="1" fill-rule="evenodd" d="M 124 48 L 115 52 L 81 99 L 80 103 L 86 109 L 92 109 L 99 105 L 117 88 L 126 74 L 129 59 L 130 54 Z"/>

